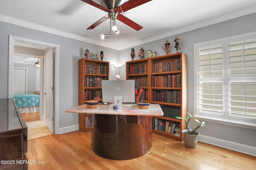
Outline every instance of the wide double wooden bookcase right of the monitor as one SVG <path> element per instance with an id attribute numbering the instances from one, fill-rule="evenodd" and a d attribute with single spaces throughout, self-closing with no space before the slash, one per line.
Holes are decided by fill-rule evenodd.
<path id="1" fill-rule="evenodd" d="M 147 65 L 147 72 L 141 73 L 138 69 Z M 137 69 L 135 71 L 132 68 Z M 146 91 L 146 100 L 150 104 L 160 104 L 164 111 L 164 116 L 153 117 L 154 120 L 161 119 L 164 123 L 170 121 L 180 125 L 180 131 L 185 129 L 185 122 L 176 119 L 175 116 L 184 117 L 187 107 L 187 64 L 186 54 L 175 53 L 126 62 L 126 79 L 146 79 L 148 86 L 141 88 Z M 154 122 L 153 122 L 154 123 Z M 155 130 L 153 133 L 170 137 L 178 141 L 183 141 L 183 135 L 180 137 L 174 133 L 168 133 L 163 130 Z"/>

